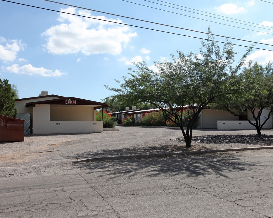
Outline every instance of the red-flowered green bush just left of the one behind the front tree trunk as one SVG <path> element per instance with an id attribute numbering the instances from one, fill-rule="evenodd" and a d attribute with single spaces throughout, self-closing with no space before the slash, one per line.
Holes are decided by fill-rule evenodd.
<path id="1" fill-rule="evenodd" d="M 142 117 L 143 126 L 166 126 L 166 117 L 162 111 L 151 111 Z"/>

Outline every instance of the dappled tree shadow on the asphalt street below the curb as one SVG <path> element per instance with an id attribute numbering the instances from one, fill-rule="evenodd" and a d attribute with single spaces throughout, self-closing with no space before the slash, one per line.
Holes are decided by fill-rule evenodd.
<path id="1" fill-rule="evenodd" d="M 85 155 L 85 154 L 83 154 Z M 255 163 L 245 163 L 241 154 L 198 154 L 160 158 L 142 158 L 129 160 L 109 160 L 87 163 L 75 163 L 78 168 L 85 168 L 86 173 L 111 180 L 120 176 L 134 176 L 145 172 L 148 177 L 162 174 L 183 177 L 216 174 L 228 178 L 227 172 L 240 172 L 255 166 Z M 72 158 L 82 157 L 82 154 Z"/>

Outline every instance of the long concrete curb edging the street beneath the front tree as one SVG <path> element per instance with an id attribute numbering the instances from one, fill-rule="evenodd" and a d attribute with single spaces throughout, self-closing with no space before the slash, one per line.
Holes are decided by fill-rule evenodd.
<path id="1" fill-rule="evenodd" d="M 77 160 L 77 161 L 74 161 L 73 163 L 95 162 L 95 161 L 105 161 L 105 160 L 136 159 L 136 158 L 147 158 L 147 157 L 166 157 L 166 156 L 190 155 L 190 154 L 209 154 L 209 153 L 228 152 L 228 151 L 261 150 L 261 149 L 273 149 L 273 146 L 231 148 L 231 149 L 219 149 L 219 150 L 184 151 L 184 152 L 158 153 L 158 154 L 136 154 L 136 155 L 124 155 L 124 156 L 91 157 L 88 159 Z"/>

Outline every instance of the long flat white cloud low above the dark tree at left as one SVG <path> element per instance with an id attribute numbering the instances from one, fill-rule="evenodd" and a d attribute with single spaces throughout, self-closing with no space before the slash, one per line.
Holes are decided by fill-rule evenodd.
<path id="1" fill-rule="evenodd" d="M 43 67 L 35 68 L 31 64 L 24 65 L 20 67 L 18 64 L 12 64 L 10 67 L 5 68 L 6 71 L 16 74 L 27 74 L 27 75 L 35 75 L 35 76 L 44 76 L 44 77 L 55 77 L 61 76 L 65 73 L 62 73 L 59 70 L 48 70 Z"/>

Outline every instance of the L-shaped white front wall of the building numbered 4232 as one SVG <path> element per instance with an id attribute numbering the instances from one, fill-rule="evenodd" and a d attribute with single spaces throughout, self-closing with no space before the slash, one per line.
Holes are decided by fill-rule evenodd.
<path id="1" fill-rule="evenodd" d="M 49 104 L 36 104 L 32 117 L 33 134 L 103 132 L 103 121 L 50 121 Z"/>

